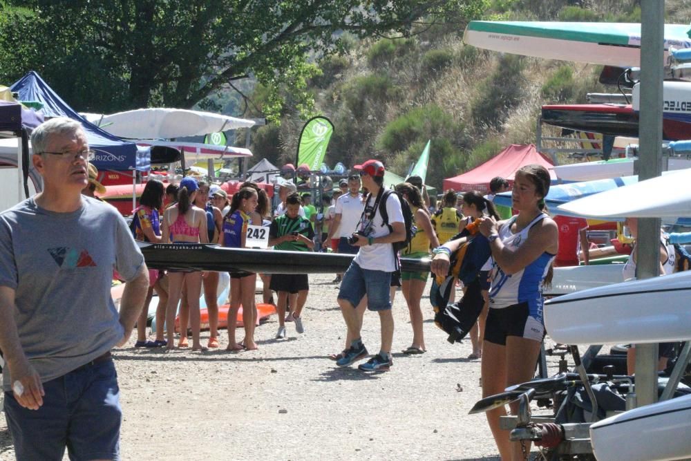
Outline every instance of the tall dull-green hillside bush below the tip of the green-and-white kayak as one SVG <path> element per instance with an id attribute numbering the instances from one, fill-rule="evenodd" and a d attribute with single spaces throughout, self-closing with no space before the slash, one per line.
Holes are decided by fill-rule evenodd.
<path id="1" fill-rule="evenodd" d="M 499 128 L 507 111 L 520 102 L 524 64 L 520 56 L 502 55 L 489 77 L 480 83 L 471 100 L 473 123 Z"/>

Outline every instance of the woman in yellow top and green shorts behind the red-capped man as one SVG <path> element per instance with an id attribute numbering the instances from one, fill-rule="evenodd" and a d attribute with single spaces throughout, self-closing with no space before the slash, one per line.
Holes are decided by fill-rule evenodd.
<path id="1" fill-rule="evenodd" d="M 417 187 L 409 182 L 397 185 L 396 191 L 408 200 L 410 211 L 413 211 L 415 227 L 417 227 L 415 236 L 410 241 L 410 245 L 401 252 L 401 256 L 406 258 L 429 256 L 430 245 L 432 248 L 436 248 L 439 246 L 439 240 L 432 227 L 429 211 L 427 211 L 422 200 L 422 194 Z M 413 326 L 413 344 L 403 351 L 404 354 L 422 354 L 426 351 L 420 299 L 422 299 L 422 292 L 425 290 L 427 279 L 429 279 L 429 272 L 401 271 L 401 290 L 408 304 L 410 324 Z"/>

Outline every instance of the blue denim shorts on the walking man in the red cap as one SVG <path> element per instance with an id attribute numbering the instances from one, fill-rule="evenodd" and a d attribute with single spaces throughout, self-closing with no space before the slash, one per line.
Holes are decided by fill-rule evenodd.
<path id="1" fill-rule="evenodd" d="M 390 286 L 391 272 L 362 269 L 357 263 L 350 263 L 343 274 L 339 299 L 345 299 L 355 307 L 367 295 L 369 310 L 387 310 L 391 308 Z"/>

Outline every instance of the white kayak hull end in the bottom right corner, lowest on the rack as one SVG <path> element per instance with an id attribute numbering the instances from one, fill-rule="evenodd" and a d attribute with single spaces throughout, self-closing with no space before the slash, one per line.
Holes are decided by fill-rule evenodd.
<path id="1" fill-rule="evenodd" d="M 642 406 L 590 426 L 598 461 L 691 458 L 691 395 Z"/>

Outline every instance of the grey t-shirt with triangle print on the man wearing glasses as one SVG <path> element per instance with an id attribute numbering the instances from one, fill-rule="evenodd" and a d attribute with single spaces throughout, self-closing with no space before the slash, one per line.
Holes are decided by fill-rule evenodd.
<path id="1" fill-rule="evenodd" d="M 55 213 L 28 198 L 0 214 L 0 285 L 15 290 L 19 341 L 41 382 L 120 341 L 113 269 L 129 281 L 143 263 L 124 218 L 99 200 L 82 197 L 77 211 Z M 7 367 L 3 388 L 10 391 Z"/>

